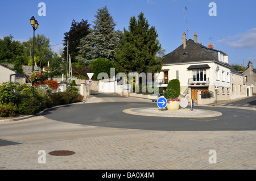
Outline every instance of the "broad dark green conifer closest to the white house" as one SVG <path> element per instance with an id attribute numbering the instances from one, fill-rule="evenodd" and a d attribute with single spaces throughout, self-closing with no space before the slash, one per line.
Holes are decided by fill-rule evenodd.
<path id="1" fill-rule="evenodd" d="M 157 37 L 155 27 L 150 27 L 142 12 L 138 20 L 135 16 L 131 17 L 129 30 L 124 28 L 121 43 L 118 44 L 115 54 L 116 63 L 122 66 L 126 73 L 159 72 L 162 65 L 159 58 L 156 58 L 156 54 L 159 50 L 163 50 Z"/>

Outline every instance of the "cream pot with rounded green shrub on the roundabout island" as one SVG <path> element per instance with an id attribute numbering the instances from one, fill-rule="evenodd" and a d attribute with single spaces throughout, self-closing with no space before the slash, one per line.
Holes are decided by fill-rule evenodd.
<path id="1" fill-rule="evenodd" d="M 180 99 L 176 98 L 176 91 L 174 89 L 166 89 L 164 91 L 164 98 L 167 99 L 167 110 L 179 110 Z"/>

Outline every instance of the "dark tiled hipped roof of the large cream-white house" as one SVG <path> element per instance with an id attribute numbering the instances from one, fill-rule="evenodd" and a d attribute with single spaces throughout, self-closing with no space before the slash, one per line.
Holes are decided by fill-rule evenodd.
<path id="1" fill-rule="evenodd" d="M 165 65 L 206 60 L 218 61 L 218 52 L 220 51 L 209 49 L 204 45 L 195 43 L 195 41 L 189 39 L 187 40 L 187 47 L 185 49 L 183 48 L 183 44 L 181 44 L 180 47 L 163 58 L 162 64 Z"/>

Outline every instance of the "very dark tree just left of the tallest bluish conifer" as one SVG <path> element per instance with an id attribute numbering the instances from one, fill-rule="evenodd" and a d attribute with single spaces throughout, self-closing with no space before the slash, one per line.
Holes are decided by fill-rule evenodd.
<path id="1" fill-rule="evenodd" d="M 74 19 L 71 23 L 71 28 L 69 32 L 64 33 L 64 49 L 63 56 L 64 59 L 67 59 L 67 43 L 68 43 L 68 54 L 71 54 L 72 62 L 77 62 L 76 56 L 79 55 L 79 49 L 77 47 L 80 44 L 80 40 L 88 35 L 90 29 L 90 24 L 88 20 L 82 19 L 81 22 L 76 22 Z"/>

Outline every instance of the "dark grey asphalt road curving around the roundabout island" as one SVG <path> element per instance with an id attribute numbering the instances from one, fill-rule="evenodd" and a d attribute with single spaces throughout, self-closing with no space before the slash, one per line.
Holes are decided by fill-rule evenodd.
<path id="1" fill-rule="evenodd" d="M 112 127 L 126 129 L 144 129 L 154 131 L 252 131 L 256 130 L 256 112 L 228 107 L 197 107 L 204 110 L 218 111 L 222 116 L 209 118 L 173 118 L 137 116 L 123 113 L 127 108 L 156 107 L 156 103 L 149 101 L 130 102 L 130 98 L 109 94 L 93 93 L 92 95 L 105 102 L 89 104 L 73 104 L 59 107 L 42 115 L 48 119 L 92 125 L 97 127 Z M 255 98 L 255 97 L 254 97 Z M 108 102 L 108 100 L 118 100 Z M 243 101 L 243 100 L 242 100 Z M 189 108 L 189 106 L 188 106 Z"/>

